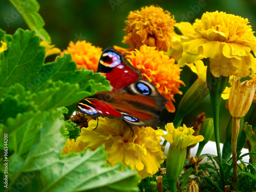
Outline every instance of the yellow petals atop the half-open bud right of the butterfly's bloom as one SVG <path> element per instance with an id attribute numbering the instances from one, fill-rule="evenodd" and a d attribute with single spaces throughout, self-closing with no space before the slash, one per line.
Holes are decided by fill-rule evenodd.
<path id="1" fill-rule="evenodd" d="M 160 136 L 170 143 L 170 147 L 178 151 L 204 140 L 202 135 L 194 136 L 195 131 L 190 127 L 186 127 L 185 124 L 183 124 L 183 127 L 179 126 L 175 129 L 173 123 L 167 123 L 165 129 L 167 134 L 165 135 L 161 130 Z"/>

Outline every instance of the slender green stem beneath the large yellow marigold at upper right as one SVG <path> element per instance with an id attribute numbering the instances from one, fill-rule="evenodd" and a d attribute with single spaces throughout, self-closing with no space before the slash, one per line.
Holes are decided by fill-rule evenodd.
<path id="1" fill-rule="evenodd" d="M 221 174 L 221 182 L 222 185 L 225 185 L 224 181 L 224 168 L 222 164 L 222 156 L 221 156 L 221 148 L 220 148 L 220 134 L 219 134 L 219 112 L 220 112 L 220 101 L 221 101 L 221 94 L 211 94 L 210 93 L 210 101 L 212 106 L 212 113 L 214 119 L 214 136 L 217 148 L 217 155 L 219 159 L 219 166 L 220 166 L 220 174 Z"/>

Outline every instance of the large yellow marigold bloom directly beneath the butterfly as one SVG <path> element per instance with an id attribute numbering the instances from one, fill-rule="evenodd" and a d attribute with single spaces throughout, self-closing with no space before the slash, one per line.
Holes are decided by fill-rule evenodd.
<path id="1" fill-rule="evenodd" d="M 95 150 L 104 144 L 108 162 L 114 166 L 118 162 L 137 168 L 141 178 L 152 177 L 166 158 L 161 151 L 161 138 L 151 127 L 130 127 L 122 120 L 98 118 L 89 121 L 88 128 L 81 129 L 80 139 L 84 149 Z M 95 130 L 93 130 L 95 129 Z"/>

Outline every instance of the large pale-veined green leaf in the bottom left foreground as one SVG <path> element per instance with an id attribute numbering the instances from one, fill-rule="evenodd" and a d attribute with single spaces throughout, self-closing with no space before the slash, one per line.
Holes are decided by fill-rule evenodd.
<path id="1" fill-rule="evenodd" d="M 20 191 L 138 191 L 136 170 L 123 169 L 122 164 L 105 164 L 104 146 L 94 152 L 87 150 L 61 157 L 66 139 L 59 132 L 63 126 L 57 118 L 60 114 L 56 110 L 44 114 L 37 139 L 25 160 L 17 154 L 11 156 L 10 190 L 22 178 L 31 176 Z"/>

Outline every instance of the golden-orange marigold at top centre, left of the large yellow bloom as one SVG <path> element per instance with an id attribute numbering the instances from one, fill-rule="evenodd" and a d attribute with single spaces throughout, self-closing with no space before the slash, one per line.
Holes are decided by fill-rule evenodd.
<path id="1" fill-rule="evenodd" d="M 139 49 L 142 45 L 157 47 L 157 50 L 167 51 L 172 47 L 171 39 L 174 31 L 174 16 L 160 7 L 150 6 L 141 10 L 131 11 L 123 43 L 129 44 L 132 49 Z"/>

